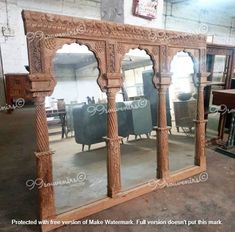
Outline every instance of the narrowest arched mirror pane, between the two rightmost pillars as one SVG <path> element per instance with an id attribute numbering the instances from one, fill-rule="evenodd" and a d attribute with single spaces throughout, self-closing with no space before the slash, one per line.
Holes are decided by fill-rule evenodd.
<path id="1" fill-rule="evenodd" d="M 171 117 L 169 136 L 170 171 L 194 165 L 197 90 L 194 63 L 186 52 L 178 52 L 171 62 L 172 83 L 167 103 Z"/>

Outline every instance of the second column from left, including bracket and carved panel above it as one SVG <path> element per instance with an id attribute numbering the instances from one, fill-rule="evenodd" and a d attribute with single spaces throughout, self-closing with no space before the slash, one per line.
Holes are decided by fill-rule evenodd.
<path id="1" fill-rule="evenodd" d="M 120 175 L 120 139 L 116 110 L 116 93 L 122 86 L 122 77 L 117 62 L 117 43 L 106 41 L 106 74 L 103 76 L 107 94 L 107 172 L 108 196 L 115 197 L 121 190 Z"/>

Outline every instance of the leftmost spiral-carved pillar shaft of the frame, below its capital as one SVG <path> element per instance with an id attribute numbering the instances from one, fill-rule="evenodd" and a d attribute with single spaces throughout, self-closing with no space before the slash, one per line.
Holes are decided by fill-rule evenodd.
<path id="1" fill-rule="evenodd" d="M 45 97 L 36 97 L 36 161 L 37 180 L 43 184 L 53 182 L 52 177 L 52 152 L 49 150 L 49 137 L 47 128 L 47 117 L 45 111 Z M 53 186 L 38 186 L 40 219 L 46 219 L 55 215 Z"/>

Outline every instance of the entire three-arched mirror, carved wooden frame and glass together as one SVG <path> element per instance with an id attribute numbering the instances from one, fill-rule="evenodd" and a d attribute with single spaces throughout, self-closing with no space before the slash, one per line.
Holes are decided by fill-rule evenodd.
<path id="1" fill-rule="evenodd" d="M 206 170 L 204 36 L 32 11 L 24 11 L 23 19 L 28 91 L 36 106 L 37 176 L 49 183 L 39 189 L 41 219 L 80 219 Z M 198 60 L 189 137 L 174 127 L 169 102 L 170 63 L 185 50 Z M 48 114 L 55 111 L 46 107 L 55 105 L 58 115 L 51 116 L 62 126 L 51 134 Z M 172 169 L 171 136 L 191 134 L 190 163 L 175 159 Z M 85 136 L 92 141 L 84 142 Z M 82 183 L 50 184 L 80 172 Z"/>

